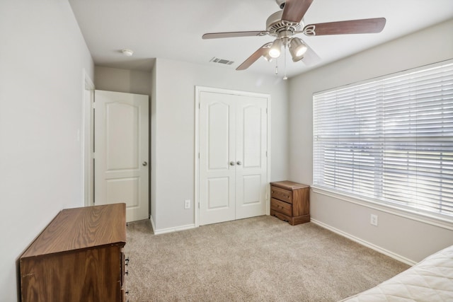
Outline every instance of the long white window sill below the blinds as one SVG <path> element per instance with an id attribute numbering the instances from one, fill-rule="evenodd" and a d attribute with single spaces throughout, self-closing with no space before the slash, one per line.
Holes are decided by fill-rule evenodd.
<path id="1" fill-rule="evenodd" d="M 328 197 L 333 197 L 336 199 L 343 200 L 345 202 L 350 202 L 352 204 L 358 204 L 360 206 L 368 207 L 370 209 L 376 209 L 378 211 L 383 211 L 383 212 L 386 212 L 389 214 L 404 217 L 406 219 L 412 219 L 415 221 L 428 223 L 432 226 L 438 226 L 440 228 L 446 228 L 447 230 L 453 231 L 453 217 L 452 217 L 452 219 L 448 219 L 448 218 L 444 219 L 439 216 L 426 214 L 425 212 L 423 212 L 423 214 L 421 214 L 420 212 L 412 210 L 412 209 L 398 207 L 398 205 L 396 205 L 396 204 L 395 205 L 394 204 L 382 204 L 379 202 L 374 202 L 371 199 L 353 197 L 349 194 L 335 192 L 333 190 L 328 190 L 326 188 L 318 187 L 316 185 L 312 185 L 311 190 L 317 194 L 322 194 L 322 195 L 325 195 Z"/>

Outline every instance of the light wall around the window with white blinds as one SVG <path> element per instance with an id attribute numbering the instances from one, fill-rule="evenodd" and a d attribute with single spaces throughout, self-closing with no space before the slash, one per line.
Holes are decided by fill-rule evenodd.
<path id="1" fill-rule="evenodd" d="M 314 92 L 453 58 L 453 20 L 374 47 L 289 81 L 290 178 L 312 183 Z M 312 192 L 311 217 L 365 243 L 401 256 L 423 259 L 453 244 L 453 231 Z M 370 214 L 379 226 L 369 224 Z"/>

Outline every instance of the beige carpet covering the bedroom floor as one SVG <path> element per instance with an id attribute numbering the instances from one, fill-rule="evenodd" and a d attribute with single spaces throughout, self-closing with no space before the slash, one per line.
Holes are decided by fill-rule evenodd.
<path id="1" fill-rule="evenodd" d="M 139 301 L 338 301 L 408 268 L 314 223 L 273 216 L 154 235 L 127 226 L 126 288 Z"/>

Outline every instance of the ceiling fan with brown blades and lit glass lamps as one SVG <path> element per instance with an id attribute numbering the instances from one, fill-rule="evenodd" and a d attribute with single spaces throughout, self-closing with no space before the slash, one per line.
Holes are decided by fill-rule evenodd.
<path id="1" fill-rule="evenodd" d="M 266 30 L 239 31 L 226 33 L 205 33 L 203 39 L 217 39 L 222 37 L 250 37 L 271 35 L 273 42 L 268 42 L 253 52 L 236 70 L 247 69 L 260 57 L 267 61 L 280 57 L 282 47 L 288 48 L 292 61 L 302 60 L 306 65 L 313 65 L 319 61 L 319 56 L 306 45 L 299 37 L 299 33 L 307 36 L 315 35 L 345 35 L 357 33 L 380 33 L 386 23 L 385 18 L 369 18 L 360 20 L 316 23 L 304 26 L 304 15 L 313 0 L 275 0 L 282 9 L 269 16 L 266 21 Z"/>

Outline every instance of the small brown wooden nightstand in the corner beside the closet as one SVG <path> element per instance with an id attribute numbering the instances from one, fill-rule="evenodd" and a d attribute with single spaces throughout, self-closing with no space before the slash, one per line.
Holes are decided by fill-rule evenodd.
<path id="1" fill-rule="evenodd" d="M 270 215 L 289 224 L 310 221 L 310 186 L 288 180 L 270 182 Z"/>

